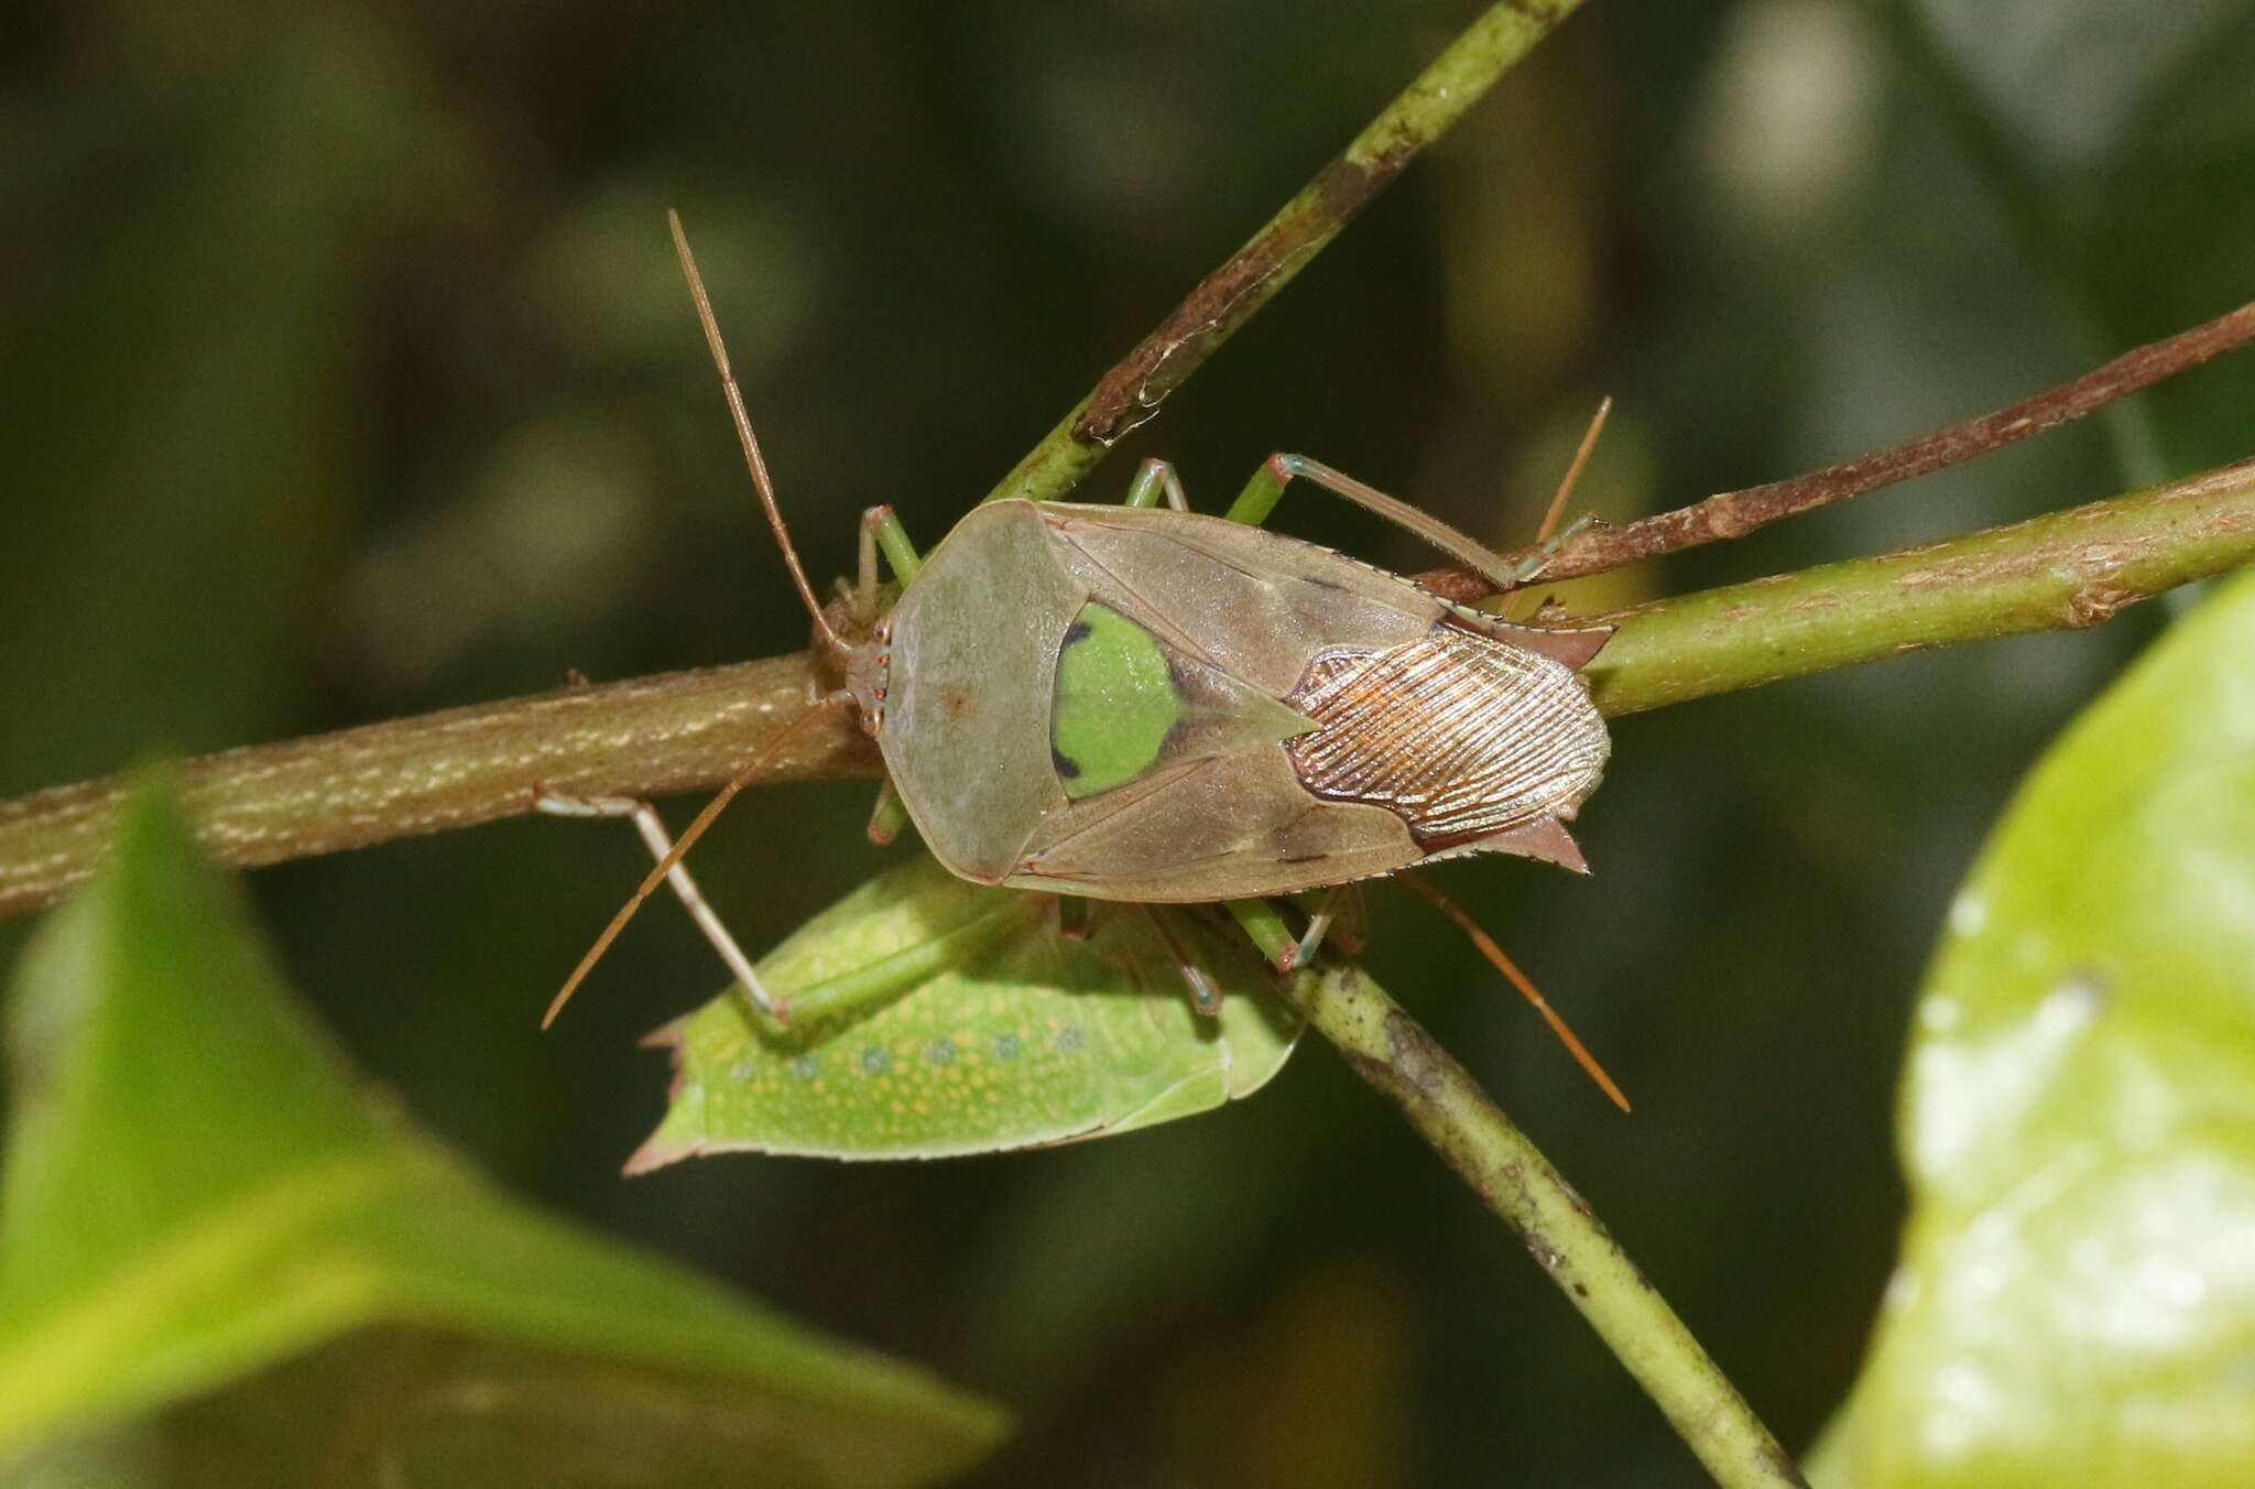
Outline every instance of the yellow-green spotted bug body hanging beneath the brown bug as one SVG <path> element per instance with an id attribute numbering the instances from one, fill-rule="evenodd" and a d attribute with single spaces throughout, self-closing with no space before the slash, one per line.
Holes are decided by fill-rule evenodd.
<path id="1" fill-rule="evenodd" d="M 931 857 L 870 880 L 778 945 L 742 993 L 667 1024 L 665 1121 L 636 1153 L 947 1157 L 1132 1133 L 1252 1094 L 1299 1038 L 1274 972 L 1218 911 L 1096 907 L 1055 929 L 1046 896 L 981 889 Z M 1179 961 L 1222 990 L 1200 1017 Z"/>

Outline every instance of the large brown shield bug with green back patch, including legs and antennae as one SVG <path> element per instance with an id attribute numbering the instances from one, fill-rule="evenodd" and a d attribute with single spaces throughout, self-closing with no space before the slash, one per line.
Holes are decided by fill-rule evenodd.
<path id="1" fill-rule="evenodd" d="M 1610 744 L 1578 672 L 1612 632 L 1511 625 L 1265 530 L 1285 483 L 1308 478 L 1500 589 L 1529 578 L 1301 456 L 1263 462 L 1224 517 L 1191 512 L 1175 472 L 1152 460 L 1121 505 L 992 501 L 929 557 L 888 508 L 873 508 L 859 582 L 834 623 L 792 546 L 679 217 L 672 230 L 753 487 L 841 677 L 816 708 L 857 708 L 884 756 L 873 835 L 886 835 L 897 801 L 963 880 L 1089 900 L 1220 900 L 1240 916 L 1265 896 L 1473 853 L 1588 871 L 1565 823 Z M 900 582 L 891 609 L 879 553 Z M 787 1017 L 679 864 L 751 769 L 679 846 L 647 803 L 543 801 L 634 817 L 661 860 L 550 1017 L 661 878 L 746 995 Z M 1303 948 L 1326 923 L 1328 907 Z M 1186 977 L 1209 1008 L 1195 968 Z"/>

